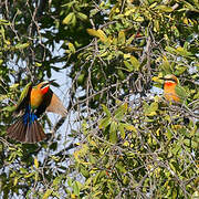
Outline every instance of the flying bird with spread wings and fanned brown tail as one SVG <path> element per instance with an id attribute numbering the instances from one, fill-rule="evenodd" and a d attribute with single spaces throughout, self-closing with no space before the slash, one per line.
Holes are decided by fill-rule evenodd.
<path id="1" fill-rule="evenodd" d="M 44 81 L 33 86 L 30 82 L 22 91 L 17 106 L 13 108 L 17 121 L 7 129 L 9 138 L 21 143 L 38 143 L 46 135 L 39 123 L 41 115 L 53 112 L 66 117 L 67 111 L 61 100 L 50 88 L 53 81 Z"/>

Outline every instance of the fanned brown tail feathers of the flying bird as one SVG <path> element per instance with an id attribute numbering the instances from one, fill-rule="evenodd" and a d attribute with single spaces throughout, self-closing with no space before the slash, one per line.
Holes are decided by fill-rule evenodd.
<path id="1" fill-rule="evenodd" d="M 7 129 L 7 134 L 10 138 L 21 143 L 36 143 L 46 138 L 38 121 L 34 121 L 31 125 L 24 125 L 22 117 Z"/>

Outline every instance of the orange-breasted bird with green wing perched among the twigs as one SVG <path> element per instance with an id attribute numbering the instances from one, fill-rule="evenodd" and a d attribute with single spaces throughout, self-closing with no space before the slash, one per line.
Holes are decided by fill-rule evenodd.
<path id="1" fill-rule="evenodd" d="M 184 103 L 188 97 L 186 90 L 180 86 L 179 80 L 174 74 L 167 74 L 164 77 L 164 96 L 168 102 Z"/>

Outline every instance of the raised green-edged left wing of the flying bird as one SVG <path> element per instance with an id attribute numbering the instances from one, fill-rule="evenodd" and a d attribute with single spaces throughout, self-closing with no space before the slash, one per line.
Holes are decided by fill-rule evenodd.
<path id="1" fill-rule="evenodd" d="M 18 105 L 15 107 L 15 112 L 20 112 L 21 109 L 23 109 L 30 102 L 30 94 L 31 94 L 31 90 L 32 90 L 32 82 L 30 82 L 22 91 Z"/>

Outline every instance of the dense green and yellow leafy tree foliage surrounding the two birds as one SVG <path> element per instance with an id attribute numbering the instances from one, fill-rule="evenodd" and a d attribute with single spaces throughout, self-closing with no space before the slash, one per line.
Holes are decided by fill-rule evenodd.
<path id="1" fill-rule="evenodd" d="M 0 6 L 3 198 L 198 197 L 197 0 Z M 70 127 L 35 145 L 7 139 L 21 88 L 66 70 Z M 170 73 L 187 104 L 153 93 Z M 42 123 L 54 129 L 48 116 Z"/>

